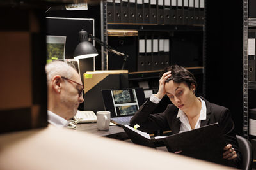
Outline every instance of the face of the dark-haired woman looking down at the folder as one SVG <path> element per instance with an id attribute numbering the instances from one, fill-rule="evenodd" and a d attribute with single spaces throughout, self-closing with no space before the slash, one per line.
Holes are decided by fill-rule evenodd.
<path id="1" fill-rule="evenodd" d="M 195 85 L 189 89 L 186 83 L 175 83 L 173 80 L 165 83 L 165 92 L 172 103 L 180 110 L 186 111 L 191 107 L 195 99 Z"/>

